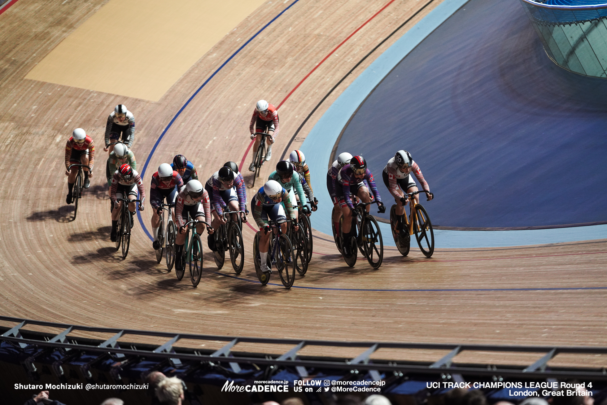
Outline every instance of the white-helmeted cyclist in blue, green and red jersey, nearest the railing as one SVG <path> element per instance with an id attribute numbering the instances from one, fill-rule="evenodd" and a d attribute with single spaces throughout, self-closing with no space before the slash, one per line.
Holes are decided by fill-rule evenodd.
<path id="1" fill-rule="evenodd" d="M 284 202 L 284 208 L 281 202 Z M 259 256 L 261 259 L 261 271 L 263 273 L 270 272 L 268 267 L 268 248 L 270 247 L 270 235 L 271 228 L 268 226 L 268 217 L 271 220 L 284 220 L 287 219 L 285 216 L 285 208 L 289 218 L 293 221 L 293 230 L 299 230 L 297 226 L 297 219 L 295 217 L 295 210 L 291 206 L 291 200 L 287 190 L 282 188 L 276 180 L 268 180 L 262 188 L 257 191 L 253 200 L 251 200 L 251 211 L 253 211 L 253 218 L 259 226 Z M 282 233 L 287 233 L 287 223 L 280 224 Z"/>

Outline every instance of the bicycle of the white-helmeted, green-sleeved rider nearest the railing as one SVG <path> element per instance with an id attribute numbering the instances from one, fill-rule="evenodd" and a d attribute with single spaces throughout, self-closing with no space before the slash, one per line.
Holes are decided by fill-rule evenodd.
<path id="1" fill-rule="evenodd" d="M 283 234 L 282 230 L 280 229 L 280 224 L 287 221 L 287 219 L 276 222 L 268 221 L 268 226 L 270 226 L 271 232 L 274 234 L 274 239 L 270 238 L 267 265 L 270 268 L 272 268 L 274 265 L 274 268 L 278 270 L 278 275 L 280 276 L 282 285 L 284 285 L 285 288 L 291 288 L 293 286 L 293 282 L 295 281 L 295 253 L 293 251 L 291 240 L 287 235 Z M 263 273 L 261 271 L 261 257 L 259 255 L 260 236 L 260 232 L 258 231 L 255 234 L 255 239 L 253 239 L 253 261 L 255 263 L 255 271 L 257 273 L 259 282 L 262 285 L 266 285 L 268 284 L 268 281 L 270 281 L 271 272 Z"/>

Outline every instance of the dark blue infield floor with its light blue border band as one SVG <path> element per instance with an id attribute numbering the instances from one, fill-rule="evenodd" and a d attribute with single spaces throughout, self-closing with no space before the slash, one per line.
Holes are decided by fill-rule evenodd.
<path id="1" fill-rule="evenodd" d="M 364 151 L 388 206 L 393 199 L 381 171 L 396 149 L 412 152 L 436 193 L 432 202 L 422 199 L 435 225 L 495 228 L 607 219 L 607 81 L 549 61 L 517 2 L 465 3 L 446 0 L 418 22 L 308 134 L 302 151 L 313 168 L 313 184 L 323 185 L 316 186 L 321 204 L 311 217 L 317 230 L 331 234 L 325 168 L 330 146 L 346 126 L 337 153 Z M 388 225 L 381 228 L 384 243 L 393 245 Z M 605 238 L 607 225 L 435 230 L 438 248 Z"/>

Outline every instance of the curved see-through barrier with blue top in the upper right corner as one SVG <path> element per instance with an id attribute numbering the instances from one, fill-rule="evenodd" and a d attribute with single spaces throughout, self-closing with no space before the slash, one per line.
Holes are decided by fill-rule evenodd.
<path id="1" fill-rule="evenodd" d="M 607 78 L 607 4 L 520 1 L 555 64 L 580 75 Z"/>

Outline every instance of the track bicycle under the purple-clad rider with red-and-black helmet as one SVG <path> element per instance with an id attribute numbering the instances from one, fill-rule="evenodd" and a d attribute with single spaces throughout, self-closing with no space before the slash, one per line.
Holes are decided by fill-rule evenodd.
<path id="1" fill-rule="evenodd" d="M 342 250 L 344 260 L 350 267 L 356 264 L 356 258 L 358 256 L 358 253 L 356 252 L 357 245 L 361 253 L 367 257 L 367 261 L 371 267 L 379 268 L 382 264 L 382 260 L 384 260 L 384 240 L 381 236 L 381 230 L 379 229 L 375 217 L 370 213 L 367 213 L 367 209 L 365 209 L 367 205 L 375 203 L 378 203 L 378 201 L 373 200 L 368 203 L 359 202 L 354 205 L 351 225 L 351 230 L 354 231 L 354 234 L 349 242 L 344 240 L 344 217 L 342 216 L 339 220 L 341 228 L 341 245 L 343 247 L 345 243 L 350 243 L 350 254 L 345 254 Z"/>

